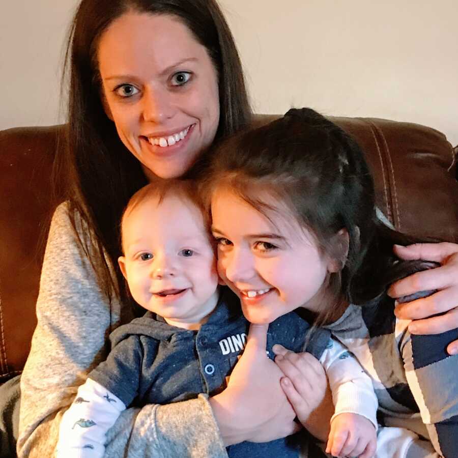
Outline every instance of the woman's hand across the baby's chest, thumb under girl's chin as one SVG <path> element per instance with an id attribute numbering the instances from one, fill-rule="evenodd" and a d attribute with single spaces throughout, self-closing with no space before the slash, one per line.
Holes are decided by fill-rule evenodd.
<path id="1" fill-rule="evenodd" d="M 280 386 L 283 376 L 266 354 L 268 325 L 250 325 L 245 351 L 227 388 L 210 399 L 224 445 L 268 442 L 295 433 L 299 425 Z"/>

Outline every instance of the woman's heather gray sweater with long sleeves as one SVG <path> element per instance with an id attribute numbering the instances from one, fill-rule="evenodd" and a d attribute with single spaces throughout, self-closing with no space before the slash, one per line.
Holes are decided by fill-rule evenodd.
<path id="1" fill-rule="evenodd" d="M 80 227 L 81 234 L 87 234 Z M 53 456 L 59 423 L 78 386 L 108 353 L 108 335 L 132 316 L 111 305 L 73 232 L 67 205 L 51 222 L 38 324 L 21 378 L 19 457 Z M 110 457 L 227 456 L 207 396 L 124 411 L 109 431 Z"/>

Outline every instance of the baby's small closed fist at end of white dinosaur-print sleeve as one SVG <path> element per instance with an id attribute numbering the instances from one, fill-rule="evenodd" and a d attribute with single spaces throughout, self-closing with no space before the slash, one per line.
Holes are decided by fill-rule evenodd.
<path id="1" fill-rule="evenodd" d="M 326 453 L 338 457 L 372 458 L 376 449 L 377 433 L 366 417 L 341 413 L 333 418 Z"/>

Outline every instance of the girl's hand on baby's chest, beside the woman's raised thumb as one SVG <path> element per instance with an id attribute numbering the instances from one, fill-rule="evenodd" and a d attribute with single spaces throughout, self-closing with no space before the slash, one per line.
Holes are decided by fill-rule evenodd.
<path id="1" fill-rule="evenodd" d="M 323 366 L 310 353 L 294 353 L 274 345 L 275 363 L 281 369 L 281 387 L 302 425 L 325 442 L 334 413 L 331 392 Z"/>

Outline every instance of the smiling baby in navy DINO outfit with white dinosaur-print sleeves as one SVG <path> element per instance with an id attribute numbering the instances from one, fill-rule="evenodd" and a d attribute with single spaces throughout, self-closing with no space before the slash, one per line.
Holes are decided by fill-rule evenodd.
<path id="1" fill-rule="evenodd" d="M 119 266 L 133 299 L 148 311 L 110 335 L 107 360 L 89 374 L 63 416 L 58 456 L 103 456 L 107 431 L 130 405 L 212 396 L 225 388 L 249 323 L 239 299 L 218 287 L 209 226 L 191 182 L 157 180 L 130 199 L 122 218 Z M 280 316 L 269 326 L 268 357 L 274 358 L 275 344 L 303 351 L 309 328 L 295 312 Z M 374 450 L 377 399 L 370 379 L 328 331 L 316 330 L 307 351 L 327 372 L 336 408 L 333 422 L 341 420 L 334 431 L 348 430 Z M 353 427 L 361 426 L 353 423 L 355 418 L 366 427 Z M 279 439 L 242 442 L 227 452 L 278 457 L 299 456 L 300 450 Z"/>

